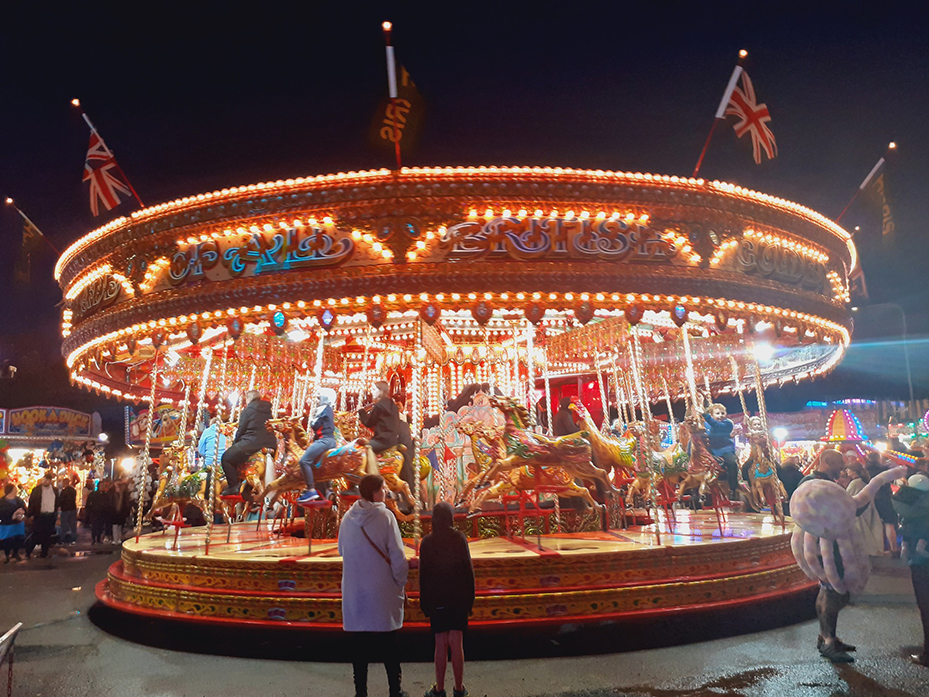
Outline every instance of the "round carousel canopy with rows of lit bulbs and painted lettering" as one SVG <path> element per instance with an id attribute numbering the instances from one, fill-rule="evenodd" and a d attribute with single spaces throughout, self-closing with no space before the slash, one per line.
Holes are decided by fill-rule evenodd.
<path id="1" fill-rule="evenodd" d="M 767 384 L 830 370 L 856 263 L 832 221 L 723 182 L 405 168 L 136 211 L 71 245 L 56 277 L 72 379 L 117 397 L 150 396 L 157 352 L 156 399 L 169 401 L 196 390 L 207 354 L 213 372 L 225 363 L 216 394 L 295 397 L 318 362 L 324 382 L 357 386 L 413 361 L 445 380 L 634 361 L 658 399 L 685 393 L 685 331 L 717 391 L 759 351 Z"/>

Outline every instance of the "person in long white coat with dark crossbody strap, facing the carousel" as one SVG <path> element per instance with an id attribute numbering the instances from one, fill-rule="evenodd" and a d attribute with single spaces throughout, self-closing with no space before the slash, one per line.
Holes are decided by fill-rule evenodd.
<path id="1" fill-rule="evenodd" d="M 342 555 L 342 628 L 352 632 L 355 697 L 367 697 L 368 663 L 383 661 L 390 697 L 408 697 L 400 688 L 403 589 L 409 563 L 393 514 L 384 505 L 384 480 L 376 474 L 358 485 L 361 499 L 339 527 Z"/>

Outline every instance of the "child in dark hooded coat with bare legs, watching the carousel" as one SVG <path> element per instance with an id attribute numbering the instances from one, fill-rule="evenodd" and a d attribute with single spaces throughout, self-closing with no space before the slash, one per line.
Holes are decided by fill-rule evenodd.
<path id="1" fill-rule="evenodd" d="M 425 697 L 445 697 L 445 669 L 451 649 L 454 697 L 466 697 L 462 632 L 474 605 L 474 568 L 468 540 L 452 527 L 454 511 L 445 503 L 432 509 L 432 532 L 419 552 L 419 605 L 435 636 L 435 684 Z"/>

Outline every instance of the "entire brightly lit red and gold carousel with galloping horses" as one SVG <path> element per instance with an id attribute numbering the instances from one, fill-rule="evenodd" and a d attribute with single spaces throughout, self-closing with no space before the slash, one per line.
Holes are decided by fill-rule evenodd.
<path id="1" fill-rule="evenodd" d="M 801 205 L 602 170 L 340 173 L 114 220 L 56 266 L 71 379 L 171 404 L 183 435 L 150 489 L 148 428 L 137 475 L 156 500 L 97 595 L 184 621 L 338 629 L 339 520 L 353 484 L 377 470 L 410 556 L 431 506 L 455 504 L 477 577 L 474 627 L 806 593 L 777 489 L 755 481 L 776 452 L 763 394 L 841 360 L 856 264 L 850 235 Z M 592 389 L 565 407 L 576 432 L 556 435 L 554 386 L 574 380 Z M 357 410 L 375 381 L 405 414 L 409 452 L 366 445 Z M 323 388 L 336 394 L 338 447 L 316 476 L 328 496 L 303 508 L 297 461 Z M 234 428 L 252 390 L 272 405 L 277 448 L 222 496 L 218 446 L 198 469 L 190 434 L 204 410 Z M 731 430 L 713 399 L 738 394 L 748 415 L 747 392 L 758 414 L 742 482 L 713 440 L 716 425 Z M 733 486 L 758 489 L 770 510 L 741 512 Z M 679 503 L 688 492 L 701 510 Z M 189 504 L 206 525 L 186 527 Z M 148 532 L 151 518 L 166 530 Z M 407 626 L 427 628 L 416 584 L 411 571 Z"/>

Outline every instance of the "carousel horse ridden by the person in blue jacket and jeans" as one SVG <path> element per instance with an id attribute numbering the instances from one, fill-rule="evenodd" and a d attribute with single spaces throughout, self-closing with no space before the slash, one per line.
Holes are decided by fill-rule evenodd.
<path id="1" fill-rule="evenodd" d="M 309 445 L 309 435 L 301 425 L 300 419 L 295 417 L 268 419 L 267 427 L 278 435 L 285 453 L 281 476 L 271 482 L 265 491 L 265 495 L 271 495 L 270 501 L 273 503 L 281 493 L 300 490 L 306 486 L 300 469 L 300 458 Z M 313 477 L 317 482 L 345 479 L 357 484 L 366 474 L 380 474 L 390 491 L 402 493 L 412 504 L 413 494 L 409 484 L 400 478 L 404 452 L 402 445 L 388 448 L 375 455 L 364 438 L 356 438 L 350 442 L 341 440 L 335 448 L 326 451 L 320 459 L 319 466 L 314 468 Z M 397 509 L 393 499 L 386 503 L 399 520 L 412 519 L 412 516 L 405 516 Z"/>

